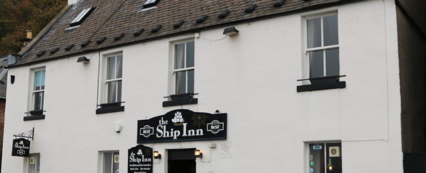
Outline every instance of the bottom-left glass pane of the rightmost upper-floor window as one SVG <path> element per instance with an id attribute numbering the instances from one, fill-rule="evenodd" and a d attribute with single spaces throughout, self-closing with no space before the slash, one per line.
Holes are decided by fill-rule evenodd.
<path id="1" fill-rule="evenodd" d="M 324 77 L 323 50 L 309 52 L 309 78 Z"/>

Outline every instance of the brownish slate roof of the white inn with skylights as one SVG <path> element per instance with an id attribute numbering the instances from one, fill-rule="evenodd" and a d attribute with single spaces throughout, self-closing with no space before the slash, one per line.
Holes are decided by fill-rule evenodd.
<path id="1" fill-rule="evenodd" d="M 273 4 L 276 1 L 278 0 L 159 0 L 155 8 L 141 11 L 145 0 L 81 0 L 73 4 L 73 7 L 13 66 L 172 35 L 194 33 L 212 27 L 286 15 L 354 0 L 286 0 L 282 6 L 275 7 Z M 254 11 L 245 12 L 252 4 L 256 4 Z M 69 29 L 71 21 L 83 9 L 89 7 L 95 9 L 80 27 Z M 224 10 L 229 10 L 229 14 L 219 18 L 219 13 Z M 207 15 L 208 18 L 204 22 L 197 23 L 197 19 L 203 15 Z M 184 23 L 174 28 L 173 25 L 180 20 Z M 158 25 L 161 25 L 159 31 L 151 33 Z M 142 34 L 134 36 L 133 33 L 140 29 L 144 29 Z M 97 43 L 96 41 L 101 38 L 105 40 Z M 90 40 L 90 43 L 81 46 L 87 40 Z"/>

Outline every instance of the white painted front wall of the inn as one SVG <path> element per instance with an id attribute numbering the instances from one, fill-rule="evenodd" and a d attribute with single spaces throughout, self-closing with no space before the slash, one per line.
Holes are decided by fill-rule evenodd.
<path id="1" fill-rule="evenodd" d="M 333 8 L 331 8 L 333 9 Z M 302 14 L 234 25 L 195 38 L 196 105 L 163 108 L 168 94 L 166 38 L 107 51 L 9 69 L 2 172 L 23 172 L 26 160 L 12 157 L 12 135 L 35 127 L 31 152 L 41 153 L 41 173 L 97 173 L 99 151 L 137 145 L 137 121 L 174 109 L 228 113 L 227 140 L 146 144 L 163 158 L 154 173 L 166 172 L 167 149 L 198 148 L 197 173 L 307 172 L 306 142 L 342 141 L 343 172 L 402 173 L 400 95 L 395 5 L 367 0 L 336 6 L 339 17 L 343 89 L 296 92 L 302 78 Z M 318 10 L 315 12 L 321 12 Z M 124 112 L 96 115 L 99 57 L 123 51 Z M 90 63 L 76 63 L 86 56 Z M 23 121 L 28 111 L 31 68 L 46 66 L 45 120 Z M 114 123 L 123 122 L 120 133 Z M 218 158 L 231 146 L 231 158 Z M 154 161 L 157 162 L 157 161 Z"/>

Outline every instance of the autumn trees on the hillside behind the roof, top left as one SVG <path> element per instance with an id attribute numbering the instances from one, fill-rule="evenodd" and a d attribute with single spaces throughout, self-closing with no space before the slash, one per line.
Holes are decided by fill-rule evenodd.
<path id="1" fill-rule="evenodd" d="M 26 30 L 35 37 L 68 0 L 0 0 L 0 56 L 18 53 Z"/>

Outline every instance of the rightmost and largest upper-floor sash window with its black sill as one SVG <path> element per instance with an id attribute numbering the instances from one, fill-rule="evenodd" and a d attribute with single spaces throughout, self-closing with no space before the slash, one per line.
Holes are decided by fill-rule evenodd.
<path id="1" fill-rule="evenodd" d="M 299 81 L 309 80 L 310 85 L 297 86 L 298 92 L 346 87 L 344 81 L 339 82 L 338 26 L 336 12 L 304 17 L 304 79 Z"/>

